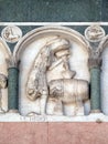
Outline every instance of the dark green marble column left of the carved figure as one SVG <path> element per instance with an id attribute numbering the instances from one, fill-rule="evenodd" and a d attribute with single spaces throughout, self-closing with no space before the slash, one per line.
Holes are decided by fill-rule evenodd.
<path id="1" fill-rule="evenodd" d="M 8 109 L 9 111 L 18 112 L 19 105 L 19 70 L 15 64 L 8 69 Z"/>

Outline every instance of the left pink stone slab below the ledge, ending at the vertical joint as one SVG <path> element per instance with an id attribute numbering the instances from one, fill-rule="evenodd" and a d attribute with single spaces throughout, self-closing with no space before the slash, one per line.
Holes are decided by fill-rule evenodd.
<path id="1" fill-rule="evenodd" d="M 47 123 L 0 123 L 0 144 L 47 144 Z"/>

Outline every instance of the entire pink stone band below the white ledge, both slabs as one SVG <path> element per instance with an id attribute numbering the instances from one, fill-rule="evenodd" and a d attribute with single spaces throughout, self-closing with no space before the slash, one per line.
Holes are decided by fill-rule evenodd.
<path id="1" fill-rule="evenodd" d="M 108 144 L 107 123 L 0 123 L 0 144 Z"/>

